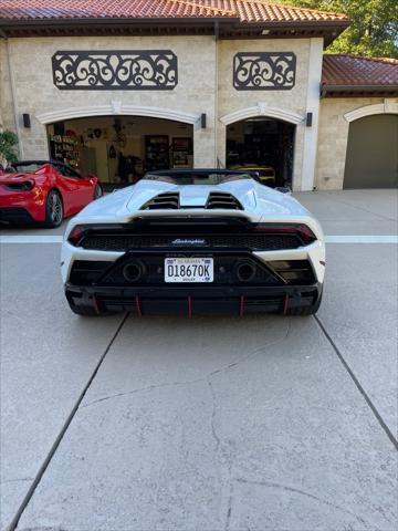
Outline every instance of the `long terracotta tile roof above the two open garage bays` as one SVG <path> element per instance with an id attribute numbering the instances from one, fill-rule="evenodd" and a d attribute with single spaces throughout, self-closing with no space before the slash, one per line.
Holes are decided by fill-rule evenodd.
<path id="1" fill-rule="evenodd" d="M 338 22 L 345 14 L 264 0 L 1 0 L 9 20 L 76 18 L 237 18 L 241 22 Z"/>

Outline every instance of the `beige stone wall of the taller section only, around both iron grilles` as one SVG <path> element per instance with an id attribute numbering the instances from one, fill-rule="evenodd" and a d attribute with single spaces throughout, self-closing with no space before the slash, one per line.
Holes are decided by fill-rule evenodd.
<path id="1" fill-rule="evenodd" d="M 48 140 L 42 116 L 62 110 L 75 110 L 76 116 L 93 106 L 112 106 L 126 112 L 127 106 L 178 111 L 197 116 L 193 127 L 195 166 L 211 167 L 222 164 L 226 157 L 226 125 L 219 119 L 237 111 L 260 104 L 266 115 L 268 107 L 292 112 L 300 116 L 296 131 L 293 181 L 301 187 L 304 119 L 308 95 L 308 65 L 311 44 L 321 39 L 286 39 L 275 41 L 216 41 L 211 37 L 158 38 L 29 38 L 8 41 L 15 93 L 15 115 L 31 115 L 31 128 L 18 124 L 21 157 L 48 156 Z M 60 91 L 52 82 L 51 56 L 59 50 L 172 50 L 178 58 L 178 85 L 172 91 Z M 237 91 L 232 85 L 232 61 L 238 52 L 289 51 L 297 58 L 295 86 L 289 91 Z M 2 64 L 7 64 L 2 44 Z M 321 80 L 317 65 L 316 84 Z M 1 76 L 3 125 L 14 128 L 9 97 L 10 80 Z M 61 114 L 60 114 L 61 113 Z M 207 127 L 200 128 L 199 118 L 205 113 Z M 317 113 L 317 110 L 315 110 Z M 69 114 L 70 117 L 72 117 Z M 156 113 L 155 113 L 156 116 Z M 277 117 L 277 116 L 275 116 Z M 59 118 L 61 119 L 61 118 Z M 316 116 L 317 122 L 317 116 Z M 297 123 L 297 122 L 296 122 Z"/>

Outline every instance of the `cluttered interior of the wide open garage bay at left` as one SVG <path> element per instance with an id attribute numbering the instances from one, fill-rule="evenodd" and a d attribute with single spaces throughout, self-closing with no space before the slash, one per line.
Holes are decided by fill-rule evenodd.
<path id="1" fill-rule="evenodd" d="M 51 158 L 108 187 L 136 183 L 156 169 L 191 168 L 193 127 L 146 116 L 95 116 L 48 126 Z"/>

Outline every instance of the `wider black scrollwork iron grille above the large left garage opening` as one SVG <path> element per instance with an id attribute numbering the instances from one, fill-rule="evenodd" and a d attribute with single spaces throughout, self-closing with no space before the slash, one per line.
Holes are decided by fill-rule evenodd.
<path id="1" fill-rule="evenodd" d="M 52 69 L 63 91 L 170 91 L 178 82 L 170 50 L 59 51 Z"/>

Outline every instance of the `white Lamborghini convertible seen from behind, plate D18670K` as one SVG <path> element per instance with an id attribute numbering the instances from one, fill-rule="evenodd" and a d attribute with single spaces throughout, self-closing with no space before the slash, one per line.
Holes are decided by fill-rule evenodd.
<path id="1" fill-rule="evenodd" d="M 304 207 L 250 171 L 163 170 L 75 216 L 61 269 L 80 315 L 308 315 L 325 242 Z"/>

